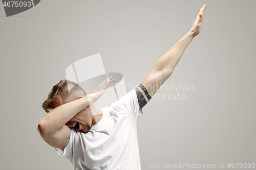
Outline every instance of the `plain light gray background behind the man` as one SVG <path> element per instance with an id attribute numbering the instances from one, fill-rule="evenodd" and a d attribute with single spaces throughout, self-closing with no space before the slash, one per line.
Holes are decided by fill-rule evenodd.
<path id="1" fill-rule="evenodd" d="M 194 91 L 185 92 L 187 100 L 151 100 L 143 108 L 141 167 L 256 162 L 255 1 L 55 0 L 12 17 L 0 7 L 1 169 L 72 169 L 36 130 L 46 114 L 41 104 L 67 66 L 100 53 L 129 92 L 204 4 L 201 33 L 165 82 Z"/>

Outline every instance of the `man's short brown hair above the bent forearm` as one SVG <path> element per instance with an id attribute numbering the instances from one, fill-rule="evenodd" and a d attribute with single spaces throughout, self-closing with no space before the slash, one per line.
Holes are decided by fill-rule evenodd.
<path id="1" fill-rule="evenodd" d="M 84 96 L 86 92 L 76 83 L 60 80 L 58 84 L 52 86 L 51 92 L 48 94 L 47 100 L 42 103 L 42 108 L 48 113 L 51 107 L 59 96 L 62 100 L 66 101 L 70 95 Z"/>

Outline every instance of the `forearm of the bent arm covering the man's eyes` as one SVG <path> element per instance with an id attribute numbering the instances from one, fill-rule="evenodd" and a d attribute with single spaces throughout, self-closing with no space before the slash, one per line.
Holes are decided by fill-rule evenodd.
<path id="1" fill-rule="evenodd" d="M 60 105 L 42 117 L 37 126 L 42 135 L 51 135 L 57 132 L 63 125 L 67 124 L 78 112 L 94 103 L 92 94 L 72 102 Z"/>

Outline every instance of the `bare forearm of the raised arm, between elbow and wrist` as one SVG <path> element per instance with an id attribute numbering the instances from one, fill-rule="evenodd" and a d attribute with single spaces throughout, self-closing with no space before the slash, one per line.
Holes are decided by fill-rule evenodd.
<path id="1" fill-rule="evenodd" d="M 188 32 L 178 42 L 168 50 L 155 64 L 154 68 L 160 69 L 164 72 L 167 78 L 172 74 L 174 67 L 179 62 L 186 47 L 195 36 Z"/>

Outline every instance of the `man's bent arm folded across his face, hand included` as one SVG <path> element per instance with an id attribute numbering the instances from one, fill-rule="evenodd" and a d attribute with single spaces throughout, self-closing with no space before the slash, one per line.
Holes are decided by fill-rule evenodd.
<path id="1" fill-rule="evenodd" d="M 95 103 L 104 93 L 106 87 L 114 82 L 112 77 L 97 85 L 91 94 L 62 104 L 47 113 L 37 122 L 37 131 L 41 138 L 54 148 L 64 150 L 70 138 L 70 129 L 66 125 L 78 112 Z"/>

